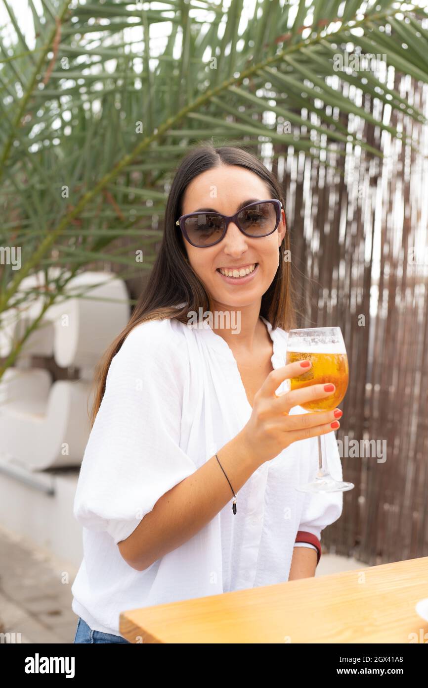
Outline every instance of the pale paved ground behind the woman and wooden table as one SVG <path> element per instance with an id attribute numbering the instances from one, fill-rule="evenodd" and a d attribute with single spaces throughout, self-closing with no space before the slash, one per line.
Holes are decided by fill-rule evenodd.
<path id="1" fill-rule="evenodd" d="M 322 555 L 317 576 L 364 566 Z M 78 617 L 71 610 L 71 585 L 76 574 L 69 562 L 0 526 L 0 632 L 21 633 L 21 643 L 73 643 Z"/>

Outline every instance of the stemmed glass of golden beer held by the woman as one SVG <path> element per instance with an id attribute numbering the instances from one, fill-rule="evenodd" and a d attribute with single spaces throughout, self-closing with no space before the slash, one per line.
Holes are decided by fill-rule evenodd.
<path id="1" fill-rule="evenodd" d="M 290 379 L 291 389 L 309 385 L 333 383 L 330 396 L 301 404 L 307 411 L 333 411 L 340 404 L 348 388 L 348 356 L 340 327 L 312 327 L 306 330 L 289 330 L 286 364 L 311 361 L 311 368 L 297 378 Z M 323 438 L 323 442 L 321 439 Z M 318 436 L 319 469 L 312 482 L 300 485 L 301 492 L 344 492 L 352 490 L 352 482 L 335 480 L 323 458 L 324 436 Z M 324 445 L 325 446 L 325 445 Z M 324 451 L 325 454 L 325 451 Z"/>

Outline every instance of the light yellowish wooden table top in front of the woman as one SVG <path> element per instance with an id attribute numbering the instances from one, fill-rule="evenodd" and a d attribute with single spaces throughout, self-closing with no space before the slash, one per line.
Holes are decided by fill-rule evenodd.
<path id="1" fill-rule="evenodd" d="M 422 643 L 425 597 L 428 557 L 128 610 L 120 633 L 131 643 Z"/>

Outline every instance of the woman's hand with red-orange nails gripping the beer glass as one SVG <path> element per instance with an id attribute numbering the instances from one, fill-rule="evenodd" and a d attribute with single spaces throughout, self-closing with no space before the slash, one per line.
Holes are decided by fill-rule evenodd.
<path id="1" fill-rule="evenodd" d="M 306 366 L 302 366 L 302 363 L 306 363 Z M 296 413 L 293 416 L 287 414 L 293 406 L 331 396 L 335 385 L 331 385 L 328 391 L 322 384 L 293 389 L 280 396 L 275 395 L 275 390 L 283 380 L 308 372 L 308 363 L 310 362 L 296 361 L 273 370 L 254 396 L 253 412 L 243 432 L 249 447 L 257 447 L 260 464 L 278 456 L 292 442 L 326 435 L 333 430 L 331 423 L 337 421 L 335 411 L 338 409 Z M 335 429 L 337 427 L 335 426 Z"/>

